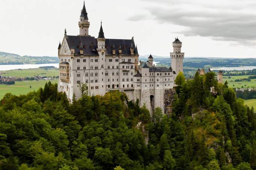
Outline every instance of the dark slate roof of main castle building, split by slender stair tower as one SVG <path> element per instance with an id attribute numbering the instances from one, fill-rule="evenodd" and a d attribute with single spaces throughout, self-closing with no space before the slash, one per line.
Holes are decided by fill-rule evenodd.
<path id="1" fill-rule="evenodd" d="M 75 47 L 75 55 L 80 55 L 80 44 L 83 46 L 83 55 L 84 56 L 98 56 L 97 52 L 97 39 L 92 36 L 66 36 L 66 40 L 68 42 L 69 48 L 72 48 L 72 44 Z M 131 39 L 106 39 L 105 47 L 106 47 L 106 55 L 112 56 L 112 50 L 116 50 L 116 55 L 119 55 L 118 48 L 122 48 L 123 56 L 130 56 L 130 46 L 134 42 Z M 136 51 L 136 50 L 135 50 Z"/>

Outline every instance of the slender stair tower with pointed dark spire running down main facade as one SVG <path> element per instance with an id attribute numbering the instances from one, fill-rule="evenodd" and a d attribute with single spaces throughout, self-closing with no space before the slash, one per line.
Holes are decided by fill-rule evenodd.
<path id="1" fill-rule="evenodd" d="M 101 92 L 101 95 L 105 95 L 106 93 L 106 86 L 105 86 L 105 57 L 106 57 L 106 48 L 105 48 L 105 36 L 102 29 L 102 22 L 101 22 L 101 28 L 99 29 L 99 36 L 97 38 L 98 47 L 97 51 L 99 54 L 99 68 L 101 69 L 102 74 L 99 74 L 99 92 Z"/>

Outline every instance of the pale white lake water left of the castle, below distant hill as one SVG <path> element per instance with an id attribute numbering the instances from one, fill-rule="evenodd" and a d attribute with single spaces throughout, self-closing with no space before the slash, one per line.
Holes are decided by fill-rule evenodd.
<path id="1" fill-rule="evenodd" d="M 23 65 L 0 65 L 0 71 L 15 70 L 15 69 L 29 69 L 39 68 L 43 66 L 54 66 L 59 68 L 59 63 L 54 64 L 23 64 Z"/>

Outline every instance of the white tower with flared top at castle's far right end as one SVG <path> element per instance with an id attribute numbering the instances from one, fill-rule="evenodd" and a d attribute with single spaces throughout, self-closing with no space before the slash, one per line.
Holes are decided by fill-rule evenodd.
<path id="1" fill-rule="evenodd" d="M 172 43 L 173 53 L 170 53 L 172 59 L 172 69 L 178 74 L 183 72 L 183 59 L 184 53 L 181 53 L 182 42 L 178 38 L 175 38 L 175 41 Z"/>

